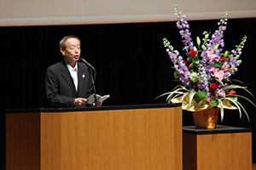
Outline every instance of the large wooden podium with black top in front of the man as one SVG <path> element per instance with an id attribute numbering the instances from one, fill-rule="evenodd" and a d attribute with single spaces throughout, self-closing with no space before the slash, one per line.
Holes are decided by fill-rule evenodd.
<path id="1" fill-rule="evenodd" d="M 180 104 L 9 110 L 7 170 L 182 170 Z"/>

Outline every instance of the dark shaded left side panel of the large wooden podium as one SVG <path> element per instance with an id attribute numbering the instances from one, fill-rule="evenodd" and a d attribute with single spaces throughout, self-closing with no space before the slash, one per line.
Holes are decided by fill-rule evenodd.
<path id="1" fill-rule="evenodd" d="M 40 114 L 6 115 L 6 169 L 40 169 Z"/>

